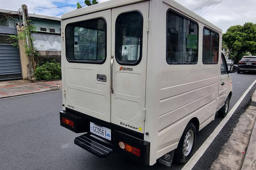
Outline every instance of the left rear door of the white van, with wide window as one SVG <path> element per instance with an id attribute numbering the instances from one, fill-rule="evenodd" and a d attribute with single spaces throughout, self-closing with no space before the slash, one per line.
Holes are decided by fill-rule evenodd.
<path id="1" fill-rule="evenodd" d="M 63 28 L 65 105 L 110 122 L 111 10 L 63 20 Z"/>

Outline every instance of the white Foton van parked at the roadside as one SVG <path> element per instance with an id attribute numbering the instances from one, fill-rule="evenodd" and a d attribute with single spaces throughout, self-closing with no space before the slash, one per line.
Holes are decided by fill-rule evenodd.
<path id="1" fill-rule="evenodd" d="M 61 31 L 60 125 L 85 133 L 75 144 L 99 157 L 184 163 L 197 132 L 228 112 L 222 30 L 173 0 L 77 9 Z"/>

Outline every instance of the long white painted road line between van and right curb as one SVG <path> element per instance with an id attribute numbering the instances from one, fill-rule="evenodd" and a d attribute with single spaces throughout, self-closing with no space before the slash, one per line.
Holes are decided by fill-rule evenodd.
<path id="1" fill-rule="evenodd" d="M 237 110 L 240 103 L 244 100 L 246 94 L 250 91 L 253 85 L 256 83 L 256 79 L 254 82 L 248 87 L 248 89 L 244 92 L 238 102 L 232 107 L 232 109 L 228 112 L 225 118 L 221 121 L 221 123 L 216 127 L 214 132 L 210 134 L 210 136 L 204 141 L 201 147 L 197 150 L 197 152 L 190 158 L 190 160 L 183 166 L 182 170 L 192 169 L 197 161 L 203 156 L 204 152 L 207 150 L 212 141 L 214 141 L 215 137 L 220 133 L 222 128 L 228 122 L 229 118 L 233 115 L 234 111 Z"/>

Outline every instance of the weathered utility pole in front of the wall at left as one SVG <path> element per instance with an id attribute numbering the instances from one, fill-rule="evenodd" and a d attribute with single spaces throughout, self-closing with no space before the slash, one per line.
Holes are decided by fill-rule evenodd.
<path id="1" fill-rule="evenodd" d="M 23 19 L 23 25 L 24 25 L 24 33 L 26 36 L 26 46 L 27 48 L 33 49 L 33 43 L 31 40 L 31 34 L 30 34 L 30 29 L 29 29 L 29 15 L 28 15 L 28 7 L 27 5 L 23 4 L 22 5 L 22 19 Z M 34 69 L 35 69 L 35 60 L 34 56 L 28 56 L 29 63 L 27 65 L 28 67 L 28 79 L 29 80 L 34 80 Z"/>

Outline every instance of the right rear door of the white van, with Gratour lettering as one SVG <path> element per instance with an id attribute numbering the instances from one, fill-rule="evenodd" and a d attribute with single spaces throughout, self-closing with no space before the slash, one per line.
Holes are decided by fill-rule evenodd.
<path id="1" fill-rule="evenodd" d="M 144 133 L 149 2 L 112 9 L 111 122 Z"/>

